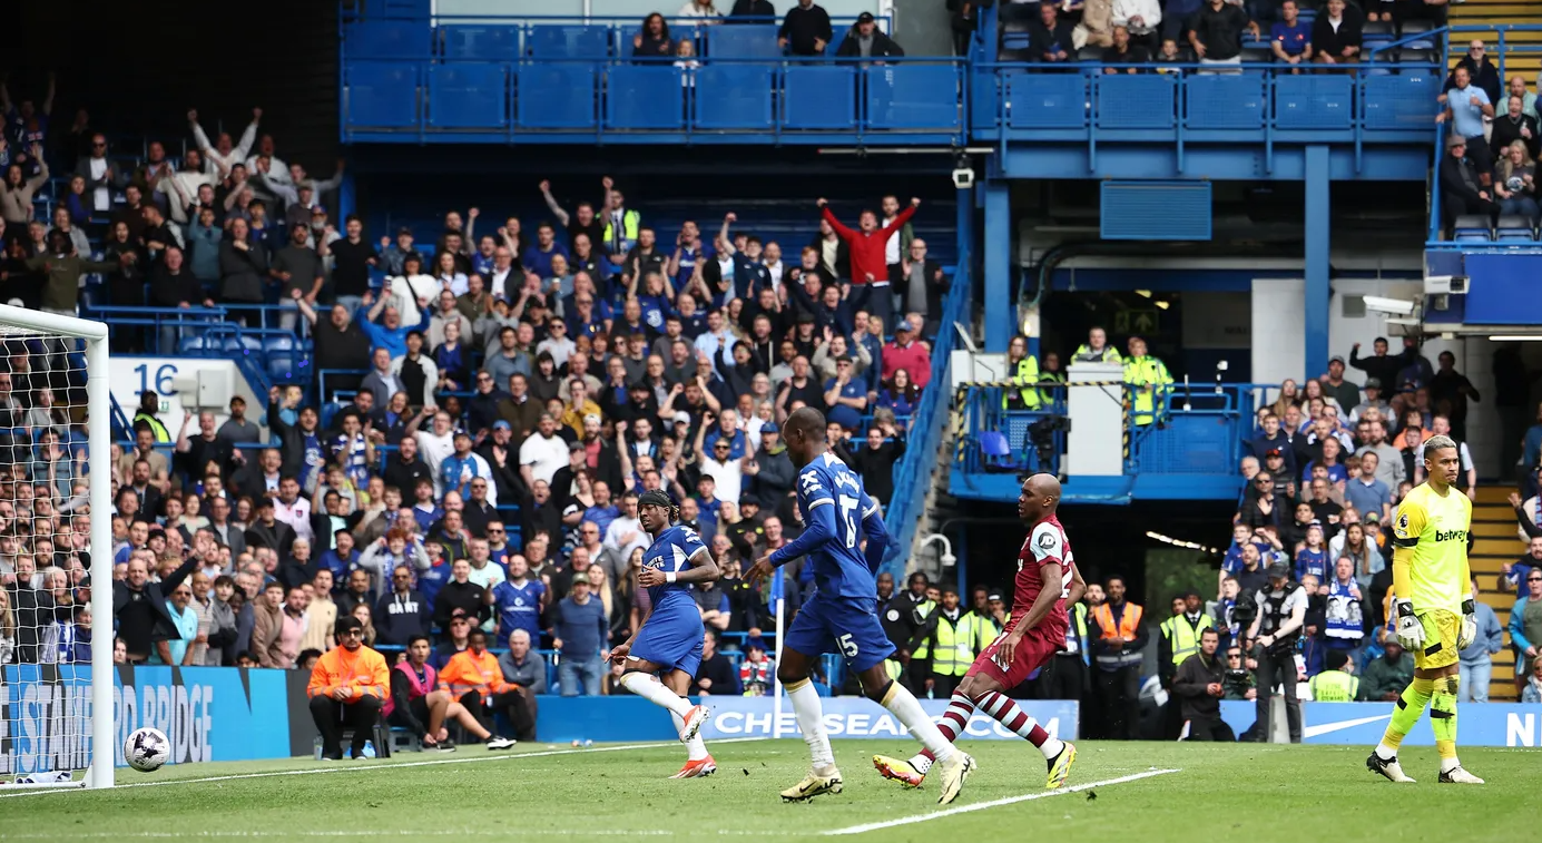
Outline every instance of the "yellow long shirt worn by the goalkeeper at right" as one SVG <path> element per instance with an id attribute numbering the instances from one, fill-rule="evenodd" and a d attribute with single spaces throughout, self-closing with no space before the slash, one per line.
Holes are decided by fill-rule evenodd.
<path id="1" fill-rule="evenodd" d="M 1456 489 L 1446 489 L 1440 496 L 1423 482 L 1397 507 L 1392 544 L 1412 550 L 1408 598 L 1414 612 L 1462 612 L 1462 601 L 1471 596 L 1465 575 L 1466 532 L 1471 526 L 1473 501 Z"/>

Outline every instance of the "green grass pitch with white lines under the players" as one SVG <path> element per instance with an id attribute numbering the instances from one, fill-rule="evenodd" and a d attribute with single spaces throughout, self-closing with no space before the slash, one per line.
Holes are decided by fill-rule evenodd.
<path id="1" fill-rule="evenodd" d="M 1477 788 L 1437 784 L 1434 747 L 1408 747 L 1403 769 L 1419 783 L 1396 786 L 1366 772 L 1368 747 L 1084 741 L 1072 789 L 1045 792 L 1044 761 L 1025 743 L 962 746 L 981 771 L 948 808 L 936 804 L 936 781 L 905 791 L 873 771 L 873 752 L 908 755 L 910 741 L 837 740 L 845 792 L 808 804 L 777 797 L 808 766 L 797 740 L 719 741 L 709 747 L 717 775 L 686 781 L 668 780 L 685 757 L 678 744 L 521 744 L 513 754 L 469 746 L 379 761 L 119 771 L 117 781 L 130 786 L 109 792 L 8 795 L 0 788 L 0 840 L 1385 843 L 1542 834 L 1527 808 L 1542 781 L 1536 751 L 1462 751 L 1465 766 L 1488 780 Z M 893 825 L 864 831 L 874 823 Z"/>

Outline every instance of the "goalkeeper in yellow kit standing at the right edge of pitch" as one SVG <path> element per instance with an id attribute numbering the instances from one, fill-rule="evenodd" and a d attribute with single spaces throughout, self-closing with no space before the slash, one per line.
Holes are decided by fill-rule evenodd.
<path id="1" fill-rule="evenodd" d="M 1451 489 L 1460 452 L 1448 436 L 1425 441 L 1425 473 L 1397 507 L 1392 550 L 1392 615 L 1397 640 L 1414 653 L 1414 683 L 1403 689 L 1392 721 L 1365 764 L 1391 781 L 1412 781 L 1397 747 L 1429 706 L 1440 754 L 1440 781 L 1482 784 L 1456 757 L 1457 657 L 1477 636 L 1477 607 L 1468 586 L 1466 533 L 1473 502 Z"/>

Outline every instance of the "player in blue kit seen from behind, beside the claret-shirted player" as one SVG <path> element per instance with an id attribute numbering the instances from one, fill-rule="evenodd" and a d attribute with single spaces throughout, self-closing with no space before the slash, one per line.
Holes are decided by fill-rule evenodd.
<path id="1" fill-rule="evenodd" d="M 782 427 L 782 439 L 797 465 L 797 509 L 803 515 L 803 535 L 757 559 L 745 575 L 746 581 L 756 583 L 805 555 L 814 570 L 814 596 L 793 618 L 777 666 L 777 678 L 793 701 L 797 727 L 813 755 L 813 769 L 802 781 L 782 791 L 782 798 L 793 801 L 840 792 L 840 771 L 825 735 L 819 694 L 808 681 L 816 658 L 839 652 L 862 680 L 862 692 L 894 712 L 936 757 L 942 772 L 942 797 L 938 801 L 947 804 L 958 798 L 975 760 L 954 749 L 914 695 L 888 678 L 884 669 L 884 660 L 894 653 L 894 646 L 877 620 L 873 573 L 890 544 L 877 504 L 862 490 L 862 479 L 830 453 L 823 413 L 811 407 L 796 410 Z M 859 547 L 864 538 L 865 550 Z"/>

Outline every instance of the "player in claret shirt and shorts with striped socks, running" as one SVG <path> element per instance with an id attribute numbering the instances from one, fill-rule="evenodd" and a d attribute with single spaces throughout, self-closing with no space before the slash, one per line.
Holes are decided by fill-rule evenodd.
<path id="1" fill-rule="evenodd" d="M 1069 620 L 1066 604 L 1081 600 L 1087 584 L 1076 572 L 1066 530 L 1055 518 L 1059 505 L 1059 481 L 1053 475 L 1033 475 L 1022 482 L 1018 515 L 1029 524 L 1029 538 L 1018 552 L 1018 578 L 1012 598 L 1012 620 L 1001 635 L 985 647 L 970 666 L 964 681 L 953 692 L 948 710 L 938 727 L 953 741 L 964 732 L 975 709 L 996 718 L 1008 730 L 1039 747 L 1049 761 L 1045 788 L 1059 788 L 1070 777 L 1076 747 L 1050 737 L 1042 726 L 1022 712 L 1007 692 L 1022 684 L 1030 673 L 1049 664 L 1066 647 Z M 874 755 L 873 766 L 885 778 L 919 788 L 931 769 L 931 754 L 921 752 L 908 761 Z"/>

